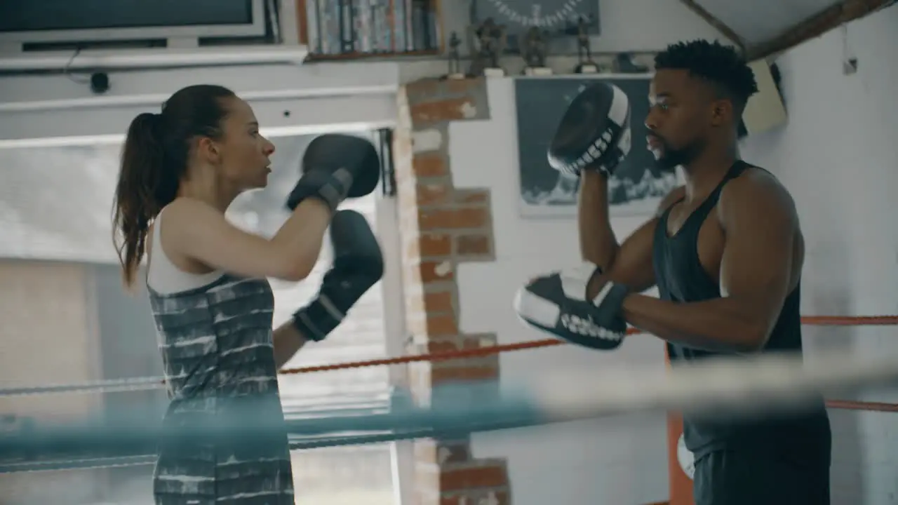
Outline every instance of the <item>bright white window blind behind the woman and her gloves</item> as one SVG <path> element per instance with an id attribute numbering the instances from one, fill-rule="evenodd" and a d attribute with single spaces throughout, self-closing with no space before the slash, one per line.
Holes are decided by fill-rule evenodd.
<path id="1" fill-rule="evenodd" d="M 287 194 L 314 136 L 277 137 L 269 186 L 242 194 L 228 209 L 237 226 L 274 235 L 288 217 Z M 119 144 L 0 149 L 0 258 L 116 263 L 111 243 L 111 206 L 119 175 Z M 341 208 L 363 214 L 376 233 L 379 191 Z M 327 242 L 327 241 L 325 241 Z M 271 279 L 275 325 L 286 322 L 318 291 L 330 268 L 325 244 L 312 275 L 292 283 Z M 383 299 L 378 283 L 362 297 L 326 341 L 309 343 L 287 368 L 383 358 Z M 386 367 L 352 368 L 285 376 L 281 393 L 288 415 L 332 409 L 380 407 L 389 389 Z"/>

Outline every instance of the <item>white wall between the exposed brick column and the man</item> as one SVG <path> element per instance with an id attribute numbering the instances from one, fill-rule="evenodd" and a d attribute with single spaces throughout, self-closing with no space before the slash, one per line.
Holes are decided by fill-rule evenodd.
<path id="1" fill-rule="evenodd" d="M 496 240 L 496 262 L 458 268 L 462 331 L 497 332 L 503 344 L 545 338 L 517 320 L 512 311 L 515 291 L 532 274 L 579 261 L 574 220 L 525 220 L 519 215 L 514 93 L 513 79 L 490 79 L 492 119 L 453 123 L 449 129 L 455 186 L 490 188 Z M 626 236 L 641 221 L 629 217 L 614 225 Z M 559 346 L 500 357 L 505 385 L 533 377 L 534 371 L 591 377 L 603 369 L 632 365 L 663 367 L 661 341 L 629 339 L 614 353 Z M 641 504 L 667 496 L 663 415 L 483 435 L 475 438 L 474 446 L 478 457 L 509 458 L 515 505 L 550 503 L 558 499 L 559 490 L 565 490 L 570 505 Z"/>

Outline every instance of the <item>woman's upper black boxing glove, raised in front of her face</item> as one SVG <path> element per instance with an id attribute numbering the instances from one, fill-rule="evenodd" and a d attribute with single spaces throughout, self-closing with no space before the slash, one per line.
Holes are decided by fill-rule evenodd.
<path id="1" fill-rule="evenodd" d="M 305 149 L 302 176 L 286 200 L 294 210 L 301 201 L 317 198 L 336 211 L 347 198 L 365 196 L 380 181 L 380 157 L 362 137 L 327 134 L 315 137 Z"/>

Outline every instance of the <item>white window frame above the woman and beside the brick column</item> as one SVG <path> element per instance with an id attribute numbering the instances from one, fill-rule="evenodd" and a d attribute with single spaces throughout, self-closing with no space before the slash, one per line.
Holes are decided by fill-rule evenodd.
<path id="1" fill-rule="evenodd" d="M 86 84 L 66 75 L 0 77 L 0 148 L 65 146 L 121 142 L 128 121 L 144 111 L 158 111 L 161 97 L 178 87 L 216 82 L 248 98 L 269 136 L 325 131 L 392 128 L 397 123 L 399 66 L 394 63 L 302 66 L 216 66 L 127 71 L 110 75 L 116 84 L 108 95 L 92 96 Z M 269 86 L 269 87 L 265 87 Z M 286 115 L 285 111 L 300 111 Z M 76 119 L 76 120 L 75 120 Z M 401 283 L 401 243 L 397 201 L 376 201 L 377 233 L 387 261 L 382 281 L 388 356 L 405 354 L 406 325 Z M 390 370 L 393 386 L 407 387 L 406 367 Z M 412 501 L 414 469 L 410 441 L 392 443 L 396 505 Z"/>

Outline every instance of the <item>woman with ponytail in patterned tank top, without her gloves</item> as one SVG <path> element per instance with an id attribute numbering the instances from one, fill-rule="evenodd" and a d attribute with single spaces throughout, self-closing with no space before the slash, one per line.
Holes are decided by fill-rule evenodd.
<path id="1" fill-rule="evenodd" d="M 192 433 L 241 421 L 266 427 L 251 439 L 163 442 L 157 505 L 294 503 L 277 368 L 307 340 L 323 337 L 307 339 L 293 322 L 272 330 L 267 278 L 309 274 L 335 205 L 306 191 L 311 196 L 272 238 L 231 225 L 225 209 L 242 191 L 266 185 L 274 150 L 251 107 L 216 85 L 181 89 L 162 111 L 140 114 L 128 128 L 115 243 L 129 288 L 146 260 L 171 399 L 163 423 Z M 316 181 L 330 183 L 321 174 Z"/>

